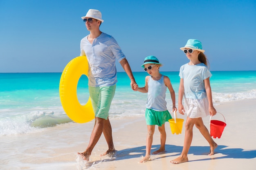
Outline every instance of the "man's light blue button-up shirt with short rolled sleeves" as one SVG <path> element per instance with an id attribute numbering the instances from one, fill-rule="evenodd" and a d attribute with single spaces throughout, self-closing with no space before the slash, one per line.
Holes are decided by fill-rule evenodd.
<path id="1" fill-rule="evenodd" d="M 125 58 L 125 55 L 115 38 L 101 33 L 91 44 L 87 35 L 81 40 L 80 49 L 80 55 L 86 55 L 89 63 L 89 86 L 113 86 L 117 83 L 115 61 L 120 62 Z"/>

